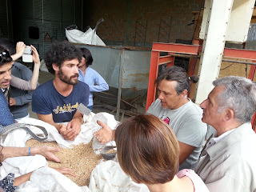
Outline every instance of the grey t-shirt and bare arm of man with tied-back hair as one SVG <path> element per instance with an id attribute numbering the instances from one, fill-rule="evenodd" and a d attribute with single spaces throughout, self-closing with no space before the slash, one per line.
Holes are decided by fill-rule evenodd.
<path id="1" fill-rule="evenodd" d="M 174 130 L 181 150 L 179 170 L 194 169 L 207 131 L 206 124 L 201 121 L 202 109 L 188 100 L 178 109 L 171 110 L 163 108 L 158 98 L 146 113 L 162 118 Z"/>

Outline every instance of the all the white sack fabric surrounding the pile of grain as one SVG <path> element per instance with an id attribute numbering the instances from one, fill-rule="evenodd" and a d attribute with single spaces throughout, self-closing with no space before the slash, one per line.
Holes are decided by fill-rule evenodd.
<path id="1" fill-rule="evenodd" d="M 90 117 L 84 117 L 87 122 L 81 126 L 81 133 L 73 142 L 66 141 L 62 135 L 58 134 L 58 130 L 54 126 L 46 122 L 42 122 L 34 118 L 26 118 L 20 123 L 30 123 L 31 125 L 43 126 L 48 132 L 47 142 L 56 141 L 59 146 L 71 148 L 71 145 L 78 145 L 79 143 L 89 143 L 95 131 L 101 129 L 98 126 L 97 120 L 100 120 L 115 129 L 118 122 L 115 121 L 114 116 L 107 113 L 90 114 Z M 35 134 L 42 134 L 42 130 L 31 126 L 30 129 Z M 25 130 L 16 129 L 10 131 L 6 137 L 1 137 L 0 143 L 2 146 L 26 146 L 26 141 L 30 139 L 30 134 Z M 115 142 L 109 142 L 107 145 L 115 145 Z M 93 149 L 101 148 L 102 145 L 94 138 Z M 98 152 L 98 151 L 95 151 Z M 99 152 L 98 152 L 99 153 Z M 42 155 L 7 158 L 0 166 L 0 179 L 6 177 L 9 173 L 14 173 L 15 177 L 33 171 L 30 181 L 18 186 L 15 191 L 54 191 L 54 192 L 90 192 L 90 191 L 139 191 L 148 192 L 146 186 L 138 185 L 130 180 L 130 178 L 123 173 L 118 162 L 107 161 L 101 162 L 90 176 L 90 189 L 87 186 L 77 186 L 65 175 L 47 166 L 46 158 Z M 97 190 L 97 187 L 100 189 Z M 118 186 L 118 187 L 117 187 Z M 120 188 L 118 190 L 118 188 Z M 146 190 L 145 190 L 146 189 Z"/>

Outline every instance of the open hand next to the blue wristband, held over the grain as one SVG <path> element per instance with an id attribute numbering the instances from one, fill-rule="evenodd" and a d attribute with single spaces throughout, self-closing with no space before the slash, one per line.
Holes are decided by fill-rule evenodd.
<path id="1" fill-rule="evenodd" d="M 33 155 L 34 154 L 41 154 L 47 160 L 50 160 L 50 161 L 53 161 L 53 162 L 61 162 L 61 160 L 55 156 L 54 152 L 58 152 L 57 147 L 38 146 L 38 147 L 32 147 L 31 148 L 31 154 L 33 154 Z"/>

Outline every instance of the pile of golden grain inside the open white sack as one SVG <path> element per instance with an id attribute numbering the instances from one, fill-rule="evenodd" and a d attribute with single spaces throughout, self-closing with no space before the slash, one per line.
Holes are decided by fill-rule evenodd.
<path id="1" fill-rule="evenodd" d="M 55 155 L 61 159 L 61 163 L 47 161 L 50 167 L 70 167 L 74 170 L 76 177 L 72 177 L 66 174 L 67 178 L 70 178 L 78 186 L 88 186 L 90 182 L 90 174 L 95 166 L 98 165 L 102 159 L 101 155 L 94 154 L 94 150 L 91 147 L 92 142 L 73 146 L 73 149 L 66 149 L 59 147 L 58 153 Z M 38 142 L 34 139 L 30 139 L 26 142 L 26 146 L 54 146 L 58 147 L 57 142 Z"/>

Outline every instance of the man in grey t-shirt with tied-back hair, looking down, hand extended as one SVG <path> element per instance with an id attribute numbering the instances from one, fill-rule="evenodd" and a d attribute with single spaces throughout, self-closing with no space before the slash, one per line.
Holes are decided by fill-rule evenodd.
<path id="1" fill-rule="evenodd" d="M 174 130 L 180 146 L 180 170 L 194 169 L 207 132 L 206 124 L 201 121 L 202 109 L 186 97 L 191 81 L 198 82 L 198 76 L 189 78 L 183 68 L 167 67 L 155 82 L 158 99 L 147 110 L 147 113 L 162 118 Z M 102 126 L 102 130 L 94 134 L 98 141 L 106 143 L 113 140 L 114 131 L 102 122 L 98 124 Z"/>

